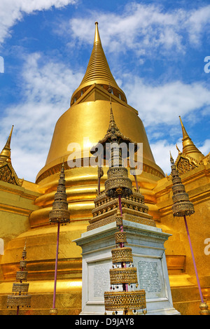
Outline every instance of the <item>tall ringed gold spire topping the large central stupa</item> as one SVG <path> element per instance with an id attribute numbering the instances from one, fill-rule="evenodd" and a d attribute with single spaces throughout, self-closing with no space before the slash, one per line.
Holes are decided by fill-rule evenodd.
<path id="1" fill-rule="evenodd" d="M 74 102 L 74 99 L 77 100 L 81 96 L 82 91 L 85 92 L 88 87 L 94 83 L 103 85 L 106 90 L 108 90 L 109 85 L 111 85 L 111 87 L 113 87 L 113 94 L 116 94 L 118 97 L 120 94 L 120 97 L 126 101 L 125 94 L 123 90 L 118 87 L 118 84 L 113 78 L 109 64 L 106 60 L 106 56 L 102 48 L 102 41 L 99 36 L 98 22 L 95 22 L 94 44 L 89 63 L 87 65 L 87 70 L 78 89 L 73 92 L 71 104 Z"/>

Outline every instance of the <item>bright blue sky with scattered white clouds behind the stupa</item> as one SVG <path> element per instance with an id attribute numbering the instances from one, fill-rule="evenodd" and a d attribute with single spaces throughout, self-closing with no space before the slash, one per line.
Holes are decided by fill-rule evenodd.
<path id="1" fill-rule="evenodd" d="M 95 21 L 157 164 L 170 172 L 169 150 L 176 159 L 176 143 L 181 148 L 179 116 L 207 155 L 209 1 L 1 0 L 0 148 L 14 125 L 18 176 L 35 181 L 45 164 L 55 123 L 69 109 L 90 59 Z"/>

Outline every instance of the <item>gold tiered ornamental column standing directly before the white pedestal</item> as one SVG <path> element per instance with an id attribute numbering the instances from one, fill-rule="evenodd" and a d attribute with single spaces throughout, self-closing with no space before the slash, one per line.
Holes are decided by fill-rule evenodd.
<path id="1" fill-rule="evenodd" d="M 146 314 L 146 293 L 144 289 L 137 290 L 137 268 L 132 265 L 132 248 L 125 247 L 127 239 L 126 233 L 123 232 L 123 216 L 119 208 L 116 225 L 119 231 L 115 233 L 116 248 L 111 251 L 113 262 L 113 268 L 109 271 L 111 291 L 104 293 L 105 310 L 113 311 L 113 314 L 123 310 L 123 314 L 128 315 L 131 311 L 144 309 Z"/>

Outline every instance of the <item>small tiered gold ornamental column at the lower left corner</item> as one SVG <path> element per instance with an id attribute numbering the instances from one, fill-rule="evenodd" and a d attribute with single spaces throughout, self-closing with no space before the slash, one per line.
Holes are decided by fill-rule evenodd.
<path id="1" fill-rule="evenodd" d="M 31 295 L 28 295 L 29 283 L 27 281 L 27 251 L 26 245 L 22 251 L 22 260 L 20 260 L 20 271 L 16 273 L 16 281 L 13 283 L 13 295 L 8 295 L 7 298 L 7 307 L 17 308 L 17 315 L 19 314 L 20 307 L 30 307 L 31 305 Z M 19 281 L 19 282 L 18 282 Z"/>

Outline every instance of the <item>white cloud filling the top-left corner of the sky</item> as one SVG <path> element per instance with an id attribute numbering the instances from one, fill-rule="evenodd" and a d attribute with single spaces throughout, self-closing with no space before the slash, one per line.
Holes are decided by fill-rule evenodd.
<path id="1" fill-rule="evenodd" d="M 48 10 L 54 6 L 62 8 L 77 0 L 1 0 L 0 1 L 0 43 L 10 36 L 10 28 L 22 20 L 24 13 Z"/>

